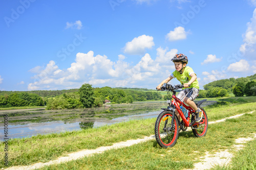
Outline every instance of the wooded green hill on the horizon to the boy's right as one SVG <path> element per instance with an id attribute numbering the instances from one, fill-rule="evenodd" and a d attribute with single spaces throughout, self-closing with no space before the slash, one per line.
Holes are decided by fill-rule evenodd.
<path id="1" fill-rule="evenodd" d="M 222 79 L 222 80 L 217 80 L 211 83 L 208 83 L 206 85 L 204 85 L 204 89 L 208 90 L 212 87 L 222 87 L 226 90 L 228 90 L 228 92 L 232 91 L 232 87 L 234 85 L 236 85 L 239 82 L 244 82 L 247 83 L 249 81 L 256 81 L 256 74 L 252 75 L 252 76 L 247 76 L 246 78 L 230 78 L 230 79 Z"/>

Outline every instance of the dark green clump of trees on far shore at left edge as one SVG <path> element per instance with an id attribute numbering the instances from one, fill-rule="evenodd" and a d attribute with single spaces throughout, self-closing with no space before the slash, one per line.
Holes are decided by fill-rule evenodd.
<path id="1" fill-rule="evenodd" d="M 44 106 L 46 103 L 38 94 L 20 92 L 0 95 L 0 108 Z"/>

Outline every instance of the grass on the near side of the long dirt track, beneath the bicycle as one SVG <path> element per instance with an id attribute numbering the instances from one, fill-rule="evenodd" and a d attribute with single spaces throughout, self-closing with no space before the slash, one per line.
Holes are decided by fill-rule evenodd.
<path id="1" fill-rule="evenodd" d="M 193 133 L 182 132 L 175 147 L 170 149 L 162 149 L 155 140 L 151 140 L 131 147 L 109 150 L 102 154 L 54 164 L 40 169 L 193 168 L 193 164 L 199 162 L 200 157 L 204 156 L 207 151 L 213 154 L 219 150 L 232 150 L 232 145 L 236 144 L 236 138 L 247 137 L 252 132 L 255 132 L 255 121 L 256 113 L 245 114 L 239 119 L 229 119 L 224 123 L 210 125 L 206 137 L 203 138 L 195 138 Z M 237 154 L 236 158 L 240 160 L 234 160 L 234 162 L 245 162 L 244 165 L 239 167 L 251 166 L 250 163 L 255 162 L 255 152 L 249 150 L 249 147 L 254 146 L 255 144 L 249 145 L 248 152 Z M 242 154 L 242 156 L 239 154 Z M 250 156 L 250 154 L 254 156 Z M 246 158 L 249 158 L 247 163 Z M 235 164 L 234 166 L 237 165 Z"/>

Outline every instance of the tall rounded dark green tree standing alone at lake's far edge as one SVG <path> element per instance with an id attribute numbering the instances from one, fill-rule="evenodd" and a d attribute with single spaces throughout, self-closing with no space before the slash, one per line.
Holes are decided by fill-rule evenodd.
<path id="1" fill-rule="evenodd" d="M 83 84 L 79 88 L 80 102 L 83 107 L 91 108 L 94 105 L 93 88 L 90 84 Z"/>

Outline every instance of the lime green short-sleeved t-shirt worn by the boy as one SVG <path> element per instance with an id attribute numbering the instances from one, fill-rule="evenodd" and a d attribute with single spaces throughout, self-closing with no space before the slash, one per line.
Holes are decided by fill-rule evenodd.
<path id="1" fill-rule="evenodd" d="M 193 73 L 195 74 L 193 69 L 191 67 L 189 67 L 189 66 L 186 66 L 184 68 L 182 74 L 180 74 L 179 71 L 175 70 L 173 72 L 173 74 L 170 75 L 170 76 L 172 76 L 173 78 L 177 78 L 177 80 L 179 80 L 181 84 L 184 84 L 184 83 L 188 83 L 189 82 L 189 80 L 191 79 L 190 75 L 193 74 Z M 190 87 L 188 87 L 188 88 L 192 88 L 192 87 L 195 87 L 195 88 L 199 89 L 199 83 L 198 83 L 197 79 L 193 83 L 191 83 Z M 182 88 L 182 89 L 185 89 L 185 87 Z"/>

